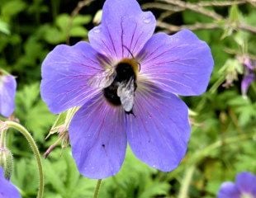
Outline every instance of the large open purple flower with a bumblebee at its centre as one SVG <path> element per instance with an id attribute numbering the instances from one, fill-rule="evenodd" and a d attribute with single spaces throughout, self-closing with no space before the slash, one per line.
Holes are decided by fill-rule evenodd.
<path id="1" fill-rule="evenodd" d="M 155 25 L 135 0 L 107 0 L 89 43 L 59 45 L 45 58 L 41 96 L 50 111 L 81 106 L 69 138 L 86 177 L 116 174 L 127 142 L 137 158 L 164 172 L 186 153 L 187 106 L 176 94 L 206 91 L 211 50 L 191 31 L 153 35 Z"/>

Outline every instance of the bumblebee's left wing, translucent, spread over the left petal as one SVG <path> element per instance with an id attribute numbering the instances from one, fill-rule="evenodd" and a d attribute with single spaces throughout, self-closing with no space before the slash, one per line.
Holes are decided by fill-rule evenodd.
<path id="1" fill-rule="evenodd" d="M 88 84 L 92 87 L 97 88 L 106 88 L 111 85 L 111 83 L 116 78 L 116 71 L 115 69 L 107 69 L 102 73 L 97 73 L 92 78 L 89 79 Z"/>

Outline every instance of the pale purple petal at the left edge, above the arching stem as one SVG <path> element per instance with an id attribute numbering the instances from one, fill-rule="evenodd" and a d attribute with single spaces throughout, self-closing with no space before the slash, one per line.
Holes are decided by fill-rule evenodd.
<path id="1" fill-rule="evenodd" d="M 0 114 L 8 117 L 15 109 L 17 82 L 12 75 L 0 76 Z"/>

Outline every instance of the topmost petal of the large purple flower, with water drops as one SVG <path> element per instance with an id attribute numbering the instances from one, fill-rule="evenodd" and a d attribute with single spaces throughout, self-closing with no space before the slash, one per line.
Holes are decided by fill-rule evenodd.
<path id="1" fill-rule="evenodd" d="M 130 57 L 130 52 L 139 53 L 153 35 L 155 25 L 154 15 L 142 12 L 135 0 L 107 0 L 102 24 L 89 31 L 88 37 L 95 50 L 119 60 Z"/>

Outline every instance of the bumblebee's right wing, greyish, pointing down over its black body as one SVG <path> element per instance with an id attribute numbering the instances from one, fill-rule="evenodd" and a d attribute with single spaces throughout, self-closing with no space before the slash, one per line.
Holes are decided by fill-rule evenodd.
<path id="1" fill-rule="evenodd" d="M 117 96 L 120 97 L 121 105 L 125 111 L 131 111 L 135 98 L 134 78 L 130 78 L 128 82 L 120 83 L 117 88 Z"/>

